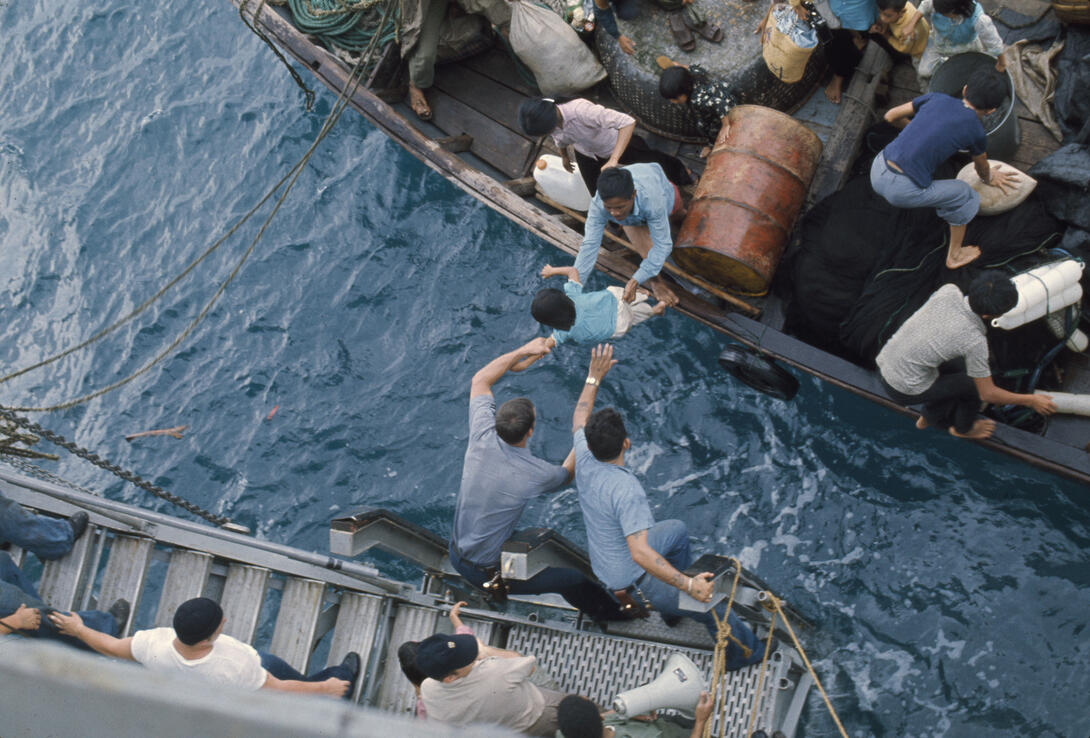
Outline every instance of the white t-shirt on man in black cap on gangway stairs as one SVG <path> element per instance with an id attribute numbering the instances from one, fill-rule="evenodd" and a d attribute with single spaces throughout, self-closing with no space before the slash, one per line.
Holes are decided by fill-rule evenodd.
<path id="1" fill-rule="evenodd" d="M 250 645 L 230 636 L 220 636 L 202 658 L 187 660 L 174 650 L 174 629 L 140 630 L 133 636 L 133 658 L 157 672 L 184 672 L 218 685 L 261 689 L 268 674 L 262 657 Z"/>

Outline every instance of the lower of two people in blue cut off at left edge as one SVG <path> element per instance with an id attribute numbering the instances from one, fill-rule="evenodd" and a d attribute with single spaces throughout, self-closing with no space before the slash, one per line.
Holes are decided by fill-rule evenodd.
<path id="1" fill-rule="evenodd" d="M 53 609 L 41 600 L 11 556 L 0 554 L 0 637 L 48 638 L 87 649 L 82 641 L 61 633 L 48 617 L 44 617 L 51 612 Z M 130 612 L 129 601 L 118 600 L 106 613 L 85 610 L 78 615 L 89 628 L 116 636 L 128 625 Z"/>

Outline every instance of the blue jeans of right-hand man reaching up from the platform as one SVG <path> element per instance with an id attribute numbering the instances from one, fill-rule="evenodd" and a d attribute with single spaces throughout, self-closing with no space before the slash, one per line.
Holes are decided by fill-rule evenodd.
<path id="1" fill-rule="evenodd" d="M 662 554 L 663 558 L 678 571 L 685 571 L 692 564 L 692 552 L 689 549 L 689 529 L 680 520 L 663 520 L 652 525 L 647 531 L 647 544 Z M 716 637 L 717 626 L 712 612 L 701 614 L 680 609 L 678 598 L 681 592 L 676 586 L 670 586 L 647 573 L 638 580 L 637 591 L 661 615 L 692 618 L 698 622 L 703 622 L 713 639 Z M 719 603 L 715 608 L 720 618 L 726 610 L 726 602 Z M 740 669 L 760 662 L 764 653 L 750 627 L 734 612 L 728 616 L 727 622 L 730 624 L 731 636 L 726 653 L 727 670 Z"/>

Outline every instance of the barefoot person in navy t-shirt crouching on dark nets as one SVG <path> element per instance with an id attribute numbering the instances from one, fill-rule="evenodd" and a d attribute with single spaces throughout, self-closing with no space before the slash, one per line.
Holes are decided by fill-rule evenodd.
<path id="1" fill-rule="evenodd" d="M 1002 105 L 1006 85 L 991 70 L 973 74 L 961 89 L 961 99 L 928 93 L 891 108 L 885 120 L 907 128 L 874 157 L 871 186 L 894 207 L 934 207 L 949 223 L 946 267 L 957 269 L 980 256 L 980 249 L 964 245 L 969 221 L 980 209 L 980 195 L 957 180 L 932 180 L 935 169 L 961 149 L 968 149 L 984 184 L 1003 192 L 1014 173 L 988 164 L 988 137 L 980 120 Z"/>

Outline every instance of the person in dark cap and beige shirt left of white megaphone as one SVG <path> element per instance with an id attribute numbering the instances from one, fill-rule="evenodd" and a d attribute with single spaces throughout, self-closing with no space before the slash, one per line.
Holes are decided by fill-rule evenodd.
<path id="1" fill-rule="evenodd" d="M 436 633 L 416 649 L 416 667 L 427 676 L 421 698 L 428 719 L 553 736 L 564 694 L 530 681 L 536 665 L 533 656 L 483 645 L 473 636 Z"/>

